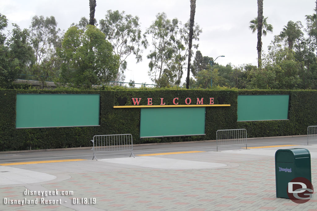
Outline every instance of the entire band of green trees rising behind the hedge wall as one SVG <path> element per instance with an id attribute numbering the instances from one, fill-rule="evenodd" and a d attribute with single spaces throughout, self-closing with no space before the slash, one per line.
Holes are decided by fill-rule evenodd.
<path id="1" fill-rule="evenodd" d="M 202 29 L 197 23 L 169 19 L 162 12 L 153 16 L 152 24 L 142 32 L 138 16 L 108 10 L 98 25 L 93 16 L 95 1 L 89 2 L 89 20 L 82 17 L 66 33 L 58 28 L 54 16 L 34 16 L 29 29 L 13 24 L 9 31 L 7 17 L 0 14 L 0 87 L 11 87 L 17 78 L 28 78 L 27 75 L 40 81 L 42 89 L 48 79 L 85 89 L 109 84 L 115 78 L 123 82 L 127 57 L 131 55 L 135 62 L 140 62 L 144 49 L 149 47 L 148 74 L 158 87 L 187 85 L 181 84 L 181 80 L 184 68 L 190 65 L 191 88 L 211 88 L 212 78 L 213 88 L 317 89 L 316 9 L 306 16 L 306 22 L 286 22 L 275 34 L 268 52 L 262 51 L 260 38 L 258 66 L 236 66 L 214 63 L 210 55 L 204 54 L 208 52 L 200 51 Z M 249 22 L 249 28 L 253 33 L 257 31 L 258 37 L 273 30 L 267 23 L 268 17 L 263 16 L 262 6 L 263 1 L 258 0 L 258 17 Z M 95 26 L 89 24 L 92 22 Z M 190 56 L 194 59 L 189 62 Z M 128 83 L 133 86 L 134 80 Z"/>

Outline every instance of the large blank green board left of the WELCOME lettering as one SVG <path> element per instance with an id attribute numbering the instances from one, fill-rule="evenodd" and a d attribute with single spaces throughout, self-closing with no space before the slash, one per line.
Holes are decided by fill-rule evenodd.
<path id="1" fill-rule="evenodd" d="M 17 94 L 16 128 L 99 125 L 99 95 Z"/>

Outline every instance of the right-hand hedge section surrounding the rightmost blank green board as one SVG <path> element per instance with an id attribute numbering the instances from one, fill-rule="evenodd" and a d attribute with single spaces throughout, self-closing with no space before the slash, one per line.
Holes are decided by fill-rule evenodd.
<path id="1" fill-rule="evenodd" d="M 238 122 L 248 137 L 305 135 L 307 127 L 317 125 L 317 91 L 239 90 L 238 95 L 289 95 L 288 120 Z"/>

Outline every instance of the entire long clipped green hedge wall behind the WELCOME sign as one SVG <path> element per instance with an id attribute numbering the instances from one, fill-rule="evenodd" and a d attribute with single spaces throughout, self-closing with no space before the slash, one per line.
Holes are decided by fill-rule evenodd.
<path id="1" fill-rule="evenodd" d="M 100 94 L 100 127 L 60 127 L 16 129 L 16 94 Z M 237 96 L 262 94 L 289 94 L 288 119 L 285 121 L 237 122 Z M 230 107 L 206 107 L 205 136 L 166 137 L 140 139 L 140 109 L 119 108 L 118 98 L 127 97 L 126 105 L 133 105 L 131 98 L 142 98 L 139 105 L 147 105 L 152 98 L 153 105 L 164 98 L 166 105 L 178 97 L 179 104 L 185 104 L 187 97 L 196 104 L 197 97 L 209 100 L 225 97 L 224 104 Z M 215 140 L 220 129 L 247 129 L 248 137 L 266 137 L 307 134 L 307 127 L 317 124 L 317 91 L 287 90 L 4 90 L 0 89 L 0 151 L 51 149 L 91 146 L 94 135 L 131 133 L 133 143 L 158 143 L 193 140 Z M 195 102 L 195 103 L 194 103 Z M 206 104 L 206 102 L 205 102 Z M 191 120 L 188 120 L 189 122 Z"/>

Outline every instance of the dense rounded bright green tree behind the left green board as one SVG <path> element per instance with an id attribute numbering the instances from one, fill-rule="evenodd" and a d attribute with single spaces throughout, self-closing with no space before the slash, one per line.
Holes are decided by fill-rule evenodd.
<path id="1" fill-rule="evenodd" d="M 95 26 L 87 25 L 85 32 L 73 26 L 65 33 L 60 52 L 61 82 L 74 87 L 91 89 L 103 84 L 118 73 L 119 57 L 111 44 Z"/>

